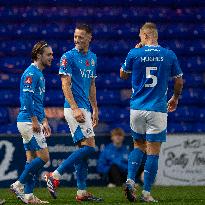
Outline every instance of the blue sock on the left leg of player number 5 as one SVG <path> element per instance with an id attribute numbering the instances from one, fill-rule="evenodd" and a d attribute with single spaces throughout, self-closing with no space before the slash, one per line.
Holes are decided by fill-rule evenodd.
<path id="1" fill-rule="evenodd" d="M 141 165 L 144 152 L 138 148 L 135 148 L 130 152 L 128 157 L 128 175 L 127 179 L 135 181 L 136 173 Z"/>

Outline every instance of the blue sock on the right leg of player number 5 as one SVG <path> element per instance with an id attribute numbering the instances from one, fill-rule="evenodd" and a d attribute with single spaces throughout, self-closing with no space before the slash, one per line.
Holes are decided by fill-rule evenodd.
<path id="1" fill-rule="evenodd" d="M 144 168 L 144 190 L 150 192 L 158 170 L 159 155 L 147 155 Z"/>

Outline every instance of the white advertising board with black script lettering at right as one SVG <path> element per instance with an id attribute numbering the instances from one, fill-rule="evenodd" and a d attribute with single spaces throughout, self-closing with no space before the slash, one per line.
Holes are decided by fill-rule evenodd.
<path id="1" fill-rule="evenodd" d="M 171 135 L 162 145 L 156 184 L 205 185 L 205 135 Z"/>

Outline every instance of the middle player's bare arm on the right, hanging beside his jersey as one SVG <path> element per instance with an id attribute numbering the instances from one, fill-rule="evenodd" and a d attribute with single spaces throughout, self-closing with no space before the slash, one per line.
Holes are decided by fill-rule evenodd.
<path id="1" fill-rule="evenodd" d="M 93 127 L 96 127 L 98 125 L 98 106 L 97 106 L 97 100 L 96 100 L 95 78 L 93 78 L 91 81 L 89 99 L 90 99 L 90 103 L 93 109 L 93 114 L 92 114 Z"/>

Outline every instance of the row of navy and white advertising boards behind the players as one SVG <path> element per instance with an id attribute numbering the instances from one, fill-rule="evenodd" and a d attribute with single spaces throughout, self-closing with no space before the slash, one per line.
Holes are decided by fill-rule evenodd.
<path id="1" fill-rule="evenodd" d="M 88 160 L 88 185 L 105 185 L 96 164 L 99 151 L 110 142 L 109 136 L 97 136 L 96 154 Z M 131 137 L 125 143 L 132 144 Z M 48 139 L 50 162 L 42 170 L 53 171 L 76 148 L 70 136 L 58 136 Z M 8 187 L 18 179 L 24 168 L 25 153 L 21 137 L 0 137 L 0 187 Z M 156 184 L 159 185 L 205 185 L 205 135 L 171 135 L 162 145 L 159 171 Z M 40 186 L 45 183 L 41 180 Z M 74 169 L 65 173 L 62 186 L 75 186 Z"/>

